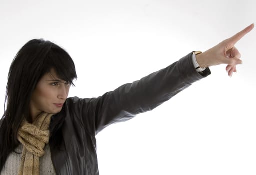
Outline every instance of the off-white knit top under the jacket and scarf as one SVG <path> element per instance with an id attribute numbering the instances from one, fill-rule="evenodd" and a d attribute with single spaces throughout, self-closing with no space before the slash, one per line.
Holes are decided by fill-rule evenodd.
<path id="1" fill-rule="evenodd" d="M 7 160 L 5 162 L 5 166 L 3 167 L 0 175 L 17 175 L 20 167 L 21 161 L 21 152 L 23 149 L 23 145 L 19 144 L 19 146 L 15 149 L 15 152 L 11 152 Z M 50 146 L 47 144 L 44 148 L 44 155 L 40 157 L 40 175 L 55 175 L 55 169 L 53 167 L 51 156 L 50 156 Z"/>

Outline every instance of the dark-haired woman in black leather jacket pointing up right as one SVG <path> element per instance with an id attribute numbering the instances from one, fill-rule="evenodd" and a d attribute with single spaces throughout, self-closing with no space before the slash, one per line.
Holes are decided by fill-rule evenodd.
<path id="1" fill-rule="evenodd" d="M 67 98 L 77 78 L 68 53 L 50 41 L 33 39 L 15 56 L 0 120 L 1 174 L 99 174 L 95 135 L 113 122 L 152 110 L 227 64 L 231 76 L 241 64 L 234 44 L 254 24 L 211 49 L 191 52 L 168 67 L 97 98 Z"/>

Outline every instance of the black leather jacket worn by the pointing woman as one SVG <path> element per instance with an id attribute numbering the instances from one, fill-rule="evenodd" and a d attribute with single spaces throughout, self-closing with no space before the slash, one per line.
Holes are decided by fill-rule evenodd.
<path id="1" fill-rule="evenodd" d="M 152 110 L 169 100 L 193 82 L 210 74 L 207 68 L 196 72 L 192 53 L 170 66 L 151 73 L 133 83 L 124 84 L 97 98 L 68 98 L 60 113 L 64 117 L 59 127 L 60 147 L 53 147 L 51 159 L 57 174 L 99 174 L 96 154 L 96 134 L 114 122 L 131 119 L 136 114 Z"/>

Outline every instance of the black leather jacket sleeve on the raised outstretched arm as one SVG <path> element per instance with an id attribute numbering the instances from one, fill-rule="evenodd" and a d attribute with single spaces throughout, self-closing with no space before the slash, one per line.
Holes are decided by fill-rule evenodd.
<path id="1" fill-rule="evenodd" d="M 86 130 L 95 135 L 114 122 L 131 119 L 136 114 L 154 109 L 178 92 L 209 74 L 196 72 L 189 53 L 166 68 L 140 80 L 124 84 L 97 98 L 73 98 L 78 116 Z"/>

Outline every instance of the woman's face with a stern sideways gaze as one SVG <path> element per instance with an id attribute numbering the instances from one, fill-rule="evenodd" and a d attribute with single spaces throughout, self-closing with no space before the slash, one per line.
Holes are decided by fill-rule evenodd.
<path id="1" fill-rule="evenodd" d="M 30 100 L 30 114 L 34 120 L 41 112 L 56 114 L 61 111 L 69 93 L 70 83 L 61 80 L 55 71 L 46 73 L 37 83 Z"/>

